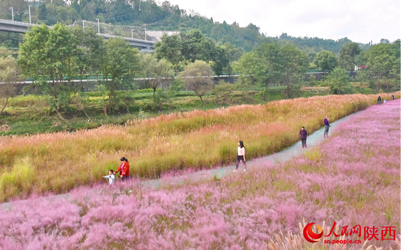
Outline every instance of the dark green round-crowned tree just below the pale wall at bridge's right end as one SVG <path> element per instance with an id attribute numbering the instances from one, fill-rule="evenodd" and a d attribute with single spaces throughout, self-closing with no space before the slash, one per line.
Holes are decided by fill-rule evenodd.
<path id="1" fill-rule="evenodd" d="M 163 34 L 160 41 L 154 44 L 154 47 L 157 58 L 167 59 L 175 66 L 175 72 L 178 73 L 178 63 L 182 59 L 181 38 L 179 34 Z"/>

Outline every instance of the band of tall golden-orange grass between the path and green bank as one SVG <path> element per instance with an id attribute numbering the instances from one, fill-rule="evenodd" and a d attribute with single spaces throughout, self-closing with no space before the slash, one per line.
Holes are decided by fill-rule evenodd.
<path id="1" fill-rule="evenodd" d="M 394 93 L 398 98 L 400 93 Z M 390 97 L 381 94 L 382 98 Z M 207 111 L 171 113 L 125 126 L 105 125 L 92 130 L 31 136 L 0 137 L 0 171 L 23 159 L 34 174 L 21 188 L 2 179 L 0 200 L 30 192 L 65 192 L 93 183 L 118 159 L 130 160 L 132 175 L 158 177 L 184 168 L 210 168 L 232 163 L 237 141 L 243 140 L 247 159 L 270 154 L 299 139 L 299 128 L 310 132 L 329 114 L 336 120 L 376 102 L 376 95 L 330 95 L 272 101 L 265 105 L 239 105 Z M 6 176 L 6 175 L 5 175 Z"/>

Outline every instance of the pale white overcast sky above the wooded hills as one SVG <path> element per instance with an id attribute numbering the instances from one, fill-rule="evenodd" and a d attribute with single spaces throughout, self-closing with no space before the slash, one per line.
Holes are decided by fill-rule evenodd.
<path id="1" fill-rule="evenodd" d="M 214 21 L 250 22 L 269 36 L 331 38 L 377 43 L 400 38 L 400 0 L 169 0 Z"/>

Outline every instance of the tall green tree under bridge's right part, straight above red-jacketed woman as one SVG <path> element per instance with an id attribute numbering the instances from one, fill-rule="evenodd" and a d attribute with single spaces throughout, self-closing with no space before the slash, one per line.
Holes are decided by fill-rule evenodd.
<path id="1" fill-rule="evenodd" d="M 107 109 L 110 111 L 115 91 L 126 85 L 124 80 L 136 73 L 139 68 L 139 50 L 132 48 L 122 38 L 110 38 L 106 42 L 106 53 L 102 60 L 103 76 L 110 79 L 103 80 L 108 91 L 109 102 Z"/>

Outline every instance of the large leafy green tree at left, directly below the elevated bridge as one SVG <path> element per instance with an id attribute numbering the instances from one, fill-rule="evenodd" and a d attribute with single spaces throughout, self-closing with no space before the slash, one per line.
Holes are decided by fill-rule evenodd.
<path id="1" fill-rule="evenodd" d="M 60 110 L 71 101 L 75 93 L 70 81 L 74 74 L 78 41 L 64 24 L 50 29 L 45 24 L 33 26 L 20 44 L 18 61 L 23 72 L 34 78 L 41 92 L 50 95 L 50 105 Z M 48 82 L 46 79 L 50 79 Z"/>

